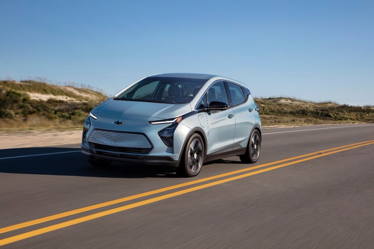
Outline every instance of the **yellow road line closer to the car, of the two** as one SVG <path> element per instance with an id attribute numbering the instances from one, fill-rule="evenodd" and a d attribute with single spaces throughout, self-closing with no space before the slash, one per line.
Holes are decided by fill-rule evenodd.
<path id="1" fill-rule="evenodd" d="M 359 143 L 355 143 L 355 144 L 343 145 L 343 146 L 340 146 L 340 147 L 335 147 L 335 148 L 331 148 L 331 149 L 327 149 L 327 150 L 316 151 L 316 152 L 304 154 L 304 155 L 301 155 L 301 156 L 290 157 L 290 158 L 287 158 L 287 159 L 283 159 L 283 160 L 279 160 L 279 161 L 275 161 L 275 162 L 271 162 L 271 163 L 265 163 L 265 164 L 257 165 L 257 166 L 254 166 L 254 167 L 248 167 L 248 168 L 245 168 L 245 169 L 234 170 L 234 171 L 223 173 L 223 174 L 220 174 L 220 175 L 210 176 L 210 177 L 206 177 L 206 178 L 202 178 L 202 179 L 198 179 L 198 180 L 194 180 L 194 181 L 189 181 L 189 182 L 184 182 L 184 183 L 177 184 L 177 185 L 172 185 L 172 186 L 165 187 L 165 188 L 160 188 L 160 189 L 157 189 L 157 190 L 152 190 L 152 191 L 148 191 L 148 192 L 144 192 L 144 193 L 140 193 L 140 194 L 135 194 L 133 196 L 123 197 L 123 198 L 116 199 L 116 200 L 111 200 L 111 201 L 108 201 L 108 202 L 98 203 L 98 204 L 95 204 L 95 205 L 82 207 L 82 208 L 79 208 L 79 209 L 74 209 L 74 210 L 70 210 L 70 211 L 67 211 L 67 212 L 62 212 L 62 213 L 46 216 L 46 217 L 39 218 L 39 219 L 34 219 L 34 220 L 31 220 L 31 221 L 27 221 L 27 222 L 22 222 L 22 223 L 19 223 L 19 224 L 8 226 L 8 227 L 3 227 L 3 228 L 0 228 L 0 234 L 1 233 L 6 233 L 6 232 L 9 232 L 9 231 L 13 231 L 13 230 L 17 230 L 17 229 L 20 229 L 20 228 L 28 227 L 28 226 L 31 226 L 31 225 L 40 224 L 40 223 L 43 223 L 43 222 L 52 221 L 54 219 L 59 219 L 59 218 L 62 218 L 62 217 L 75 215 L 77 213 L 82 213 L 82 212 L 86 212 L 86 211 L 89 211 L 89 210 L 98 209 L 100 207 L 110 206 L 110 205 L 114 205 L 114 204 L 117 204 L 117 203 L 126 202 L 126 201 L 129 201 L 129 200 L 134 200 L 134 199 L 137 199 L 137 198 L 150 196 L 152 194 L 162 193 L 162 192 L 165 192 L 165 191 L 168 191 L 168 190 L 173 190 L 173 189 L 176 189 L 176 188 L 181 188 L 181 187 L 185 187 L 185 186 L 188 186 L 188 185 L 197 184 L 197 183 L 200 183 L 200 182 L 205 182 L 205 181 L 221 178 L 221 177 L 224 177 L 224 176 L 229 176 L 229 175 L 234 175 L 234 174 L 237 174 L 237 173 L 242 173 L 242 172 L 252 170 L 252 169 L 258 169 L 260 167 L 266 167 L 266 166 L 274 165 L 274 164 L 277 164 L 277 163 L 283 163 L 283 162 L 287 162 L 287 161 L 290 161 L 290 160 L 299 159 L 301 157 L 312 156 L 312 155 L 319 154 L 319 153 L 324 153 L 324 152 L 327 152 L 327 151 L 337 150 L 337 149 L 340 149 L 340 148 L 346 148 L 346 147 L 350 147 L 350 146 L 353 146 L 353 145 L 364 144 L 364 143 L 373 142 L 373 141 L 374 140 L 369 140 L 369 141 L 359 142 Z"/>

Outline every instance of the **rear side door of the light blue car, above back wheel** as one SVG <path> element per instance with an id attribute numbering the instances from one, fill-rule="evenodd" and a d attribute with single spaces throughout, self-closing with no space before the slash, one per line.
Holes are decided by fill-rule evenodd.
<path id="1" fill-rule="evenodd" d="M 244 95 L 241 86 L 231 82 L 226 82 L 226 86 L 236 122 L 233 150 L 240 150 L 247 146 L 250 132 L 255 125 L 255 107 L 251 102 L 246 101 L 248 96 Z"/>

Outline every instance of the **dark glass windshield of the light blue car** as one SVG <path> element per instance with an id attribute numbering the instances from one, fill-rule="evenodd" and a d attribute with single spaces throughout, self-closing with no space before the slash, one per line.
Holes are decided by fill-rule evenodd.
<path id="1" fill-rule="evenodd" d="M 147 77 L 114 100 L 185 104 L 193 99 L 206 81 L 190 78 Z"/>

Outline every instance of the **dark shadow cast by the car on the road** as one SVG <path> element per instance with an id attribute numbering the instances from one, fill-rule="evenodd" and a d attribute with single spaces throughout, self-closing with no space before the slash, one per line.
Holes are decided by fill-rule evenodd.
<path id="1" fill-rule="evenodd" d="M 215 160 L 213 163 L 240 163 Z M 80 148 L 33 147 L 0 150 L 0 172 L 38 175 L 88 176 L 103 178 L 178 178 L 171 168 L 113 162 L 107 167 L 91 166 Z"/>

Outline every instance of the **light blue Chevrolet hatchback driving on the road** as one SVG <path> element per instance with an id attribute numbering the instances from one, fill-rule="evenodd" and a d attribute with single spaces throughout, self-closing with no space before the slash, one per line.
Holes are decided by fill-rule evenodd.
<path id="1" fill-rule="evenodd" d="M 91 111 L 82 154 L 93 166 L 145 163 L 187 177 L 196 176 L 204 162 L 224 157 L 255 163 L 261 149 L 258 111 L 249 89 L 236 80 L 156 74 Z"/>

